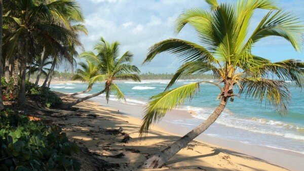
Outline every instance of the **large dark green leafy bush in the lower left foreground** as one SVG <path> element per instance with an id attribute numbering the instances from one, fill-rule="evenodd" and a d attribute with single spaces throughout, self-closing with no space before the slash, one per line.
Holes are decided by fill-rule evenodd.
<path id="1" fill-rule="evenodd" d="M 70 157 L 79 147 L 58 126 L 29 121 L 13 111 L 0 113 L 0 170 L 80 170 Z"/>

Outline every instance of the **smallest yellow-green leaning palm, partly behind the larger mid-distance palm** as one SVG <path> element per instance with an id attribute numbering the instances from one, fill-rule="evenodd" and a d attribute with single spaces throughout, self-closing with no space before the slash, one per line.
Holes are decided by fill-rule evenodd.
<path id="1" fill-rule="evenodd" d="M 92 90 L 93 84 L 95 82 L 92 82 L 91 79 L 97 75 L 99 75 L 99 70 L 98 67 L 94 64 L 91 63 L 90 61 L 87 60 L 87 63 L 80 62 L 79 65 L 82 67 L 82 69 L 77 69 L 76 74 L 73 75 L 73 80 L 81 80 L 83 82 L 88 82 L 88 88 L 85 91 L 77 92 L 74 94 L 67 95 L 63 97 L 62 99 L 68 98 L 68 97 L 73 97 L 76 95 L 80 95 L 83 93 L 88 93 Z M 96 81 L 96 79 L 95 79 Z"/>

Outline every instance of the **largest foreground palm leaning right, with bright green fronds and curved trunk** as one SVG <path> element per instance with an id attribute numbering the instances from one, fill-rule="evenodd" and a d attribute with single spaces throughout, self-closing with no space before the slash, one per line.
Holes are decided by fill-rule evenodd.
<path id="1" fill-rule="evenodd" d="M 140 135 L 146 135 L 149 126 L 159 121 L 167 111 L 183 104 L 186 99 L 192 99 L 199 91 L 200 83 L 204 82 L 170 89 L 181 75 L 212 73 L 217 81 L 207 83 L 219 88 L 219 105 L 194 130 L 147 159 L 143 168 L 162 167 L 179 150 L 207 130 L 219 117 L 227 102 L 233 101 L 235 96 L 244 95 L 286 112 L 290 95 L 285 80 L 302 87 L 304 63 L 292 59 L 272 63 L 251 51 L 259 40 L 272 35 L 285 38 L 299 51 L 304 27 L 298 18 L 278 9 L 269 0 L 239 0 L 234 5 L 218 4 L 216 0 L 206 2 L 211 11 L 198 8 L 186 10 L 177 18 L 175 27 L 178 33 L 186 24 L 193 26 L 200 44 L 171 38 L 158 42 L 148 50 L 144 63 L 162 52 L 175 54 L 184 63 L 174 74 L 165 92 L 151 97 L 146 105 Z M 269 10 L 269 13 L 248 35 L 249 22 L 256 9 Z"/>

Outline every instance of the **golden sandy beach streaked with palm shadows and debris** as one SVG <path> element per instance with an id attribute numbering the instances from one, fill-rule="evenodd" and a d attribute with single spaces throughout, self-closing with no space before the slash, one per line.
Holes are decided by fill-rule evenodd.
<path id="1" fill-rule="evenodd" d="M 111 104 L 118 105 L 112 102 Z M 133 112 L 141 111 L 138 111 L 136 107 L 124 105 L 119 105 L 120 113 L 118 113 L 118 108 L 100 106 L 99 103 L 86 101 L 75 106 L 79 108 L 77 112 L 64 112 L 60 114 L 60 117 L 44 117 L 62 126 L 70 141 L 87 148 L 98 158 L 118 163 L 120 168 L 115 168 L 115 170 L 140 170 L 140 165 L 149 156 L 179 138 L 172 129 L 180 134 L 186 131 L 181 127 L 158 124 L 151 128 L 145 139 L 140 140 L 138 130 L 141 119 L 124 114 L 123 108 L 133 109 Z M 173 112 L 181 117 L 188 117 L 184 113 Z M 165 119 L 170 119 L 170 117 Z M 168 129 L 169 127 L 171 129 Z M 159 170 L 300 170 L 303 164 L 300 163 L 302 156 L 297 156 L 297 153 L 290 151 L 253 147 L 210 136 L 205 139 L 208 141 L 200 139 L 192 141 Z M 246 150 L 247 153 L 241 152 Z M 248 151 L 252 151 L 251 155 Z M 274 159 L 272 161 L 264 159 L 268 157 Z M 293 160 L 293 162 L 284 162 L 286 160 L 287 162 Z M 275 164 L 276 162 L 273 161 L 281 161 L 281 164 Z"/>

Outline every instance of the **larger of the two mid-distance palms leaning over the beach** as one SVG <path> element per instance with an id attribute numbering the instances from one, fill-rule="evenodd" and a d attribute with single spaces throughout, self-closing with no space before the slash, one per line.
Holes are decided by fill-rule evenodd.
<path id="1" fill-rule="evenodd" d="M 63 104 L 62 108 L 70 108 L 75 104 L 99 96 L 103 93 L 105 93 L 107 102 L 111 93 L 115 93 L 118 99 L 125 99 L 125 95 L 119 89 L 114 80 L 132 79 L 134 81 L 140 81 L 138 76 L 140 71 L 135 65 L 131 64 L 133 54 L 130 51 L 125 52 L 119 58 L 119 46 L 120 44 L 118 41 L 109 44 L 109 42 L 105 41 L 101 37 L 94 48 L 94 50 L 96 50 L 98 53 L 97 55 L 95 55 L 92 51 L 84 52 L 80 55 L 81 57 L 90 61 L 92 64 L 95 64 L 98 68 L 99 74 L 92 77 L 90 82 L 105 81 L 104 87 L 102 88 L 103 90 L 96 94 L 75 100 L 71 103 Z"/>

